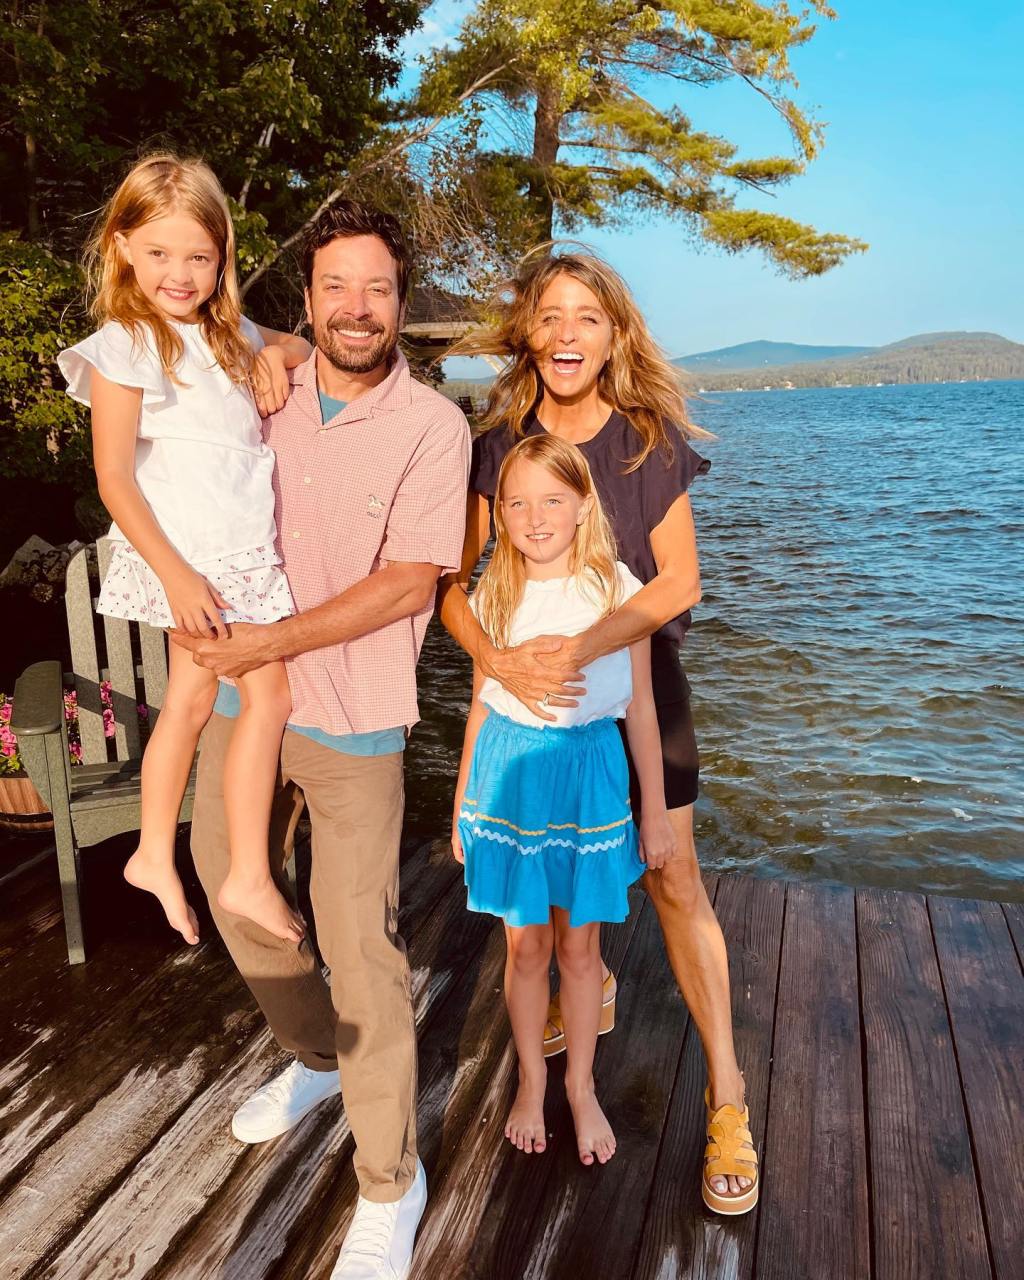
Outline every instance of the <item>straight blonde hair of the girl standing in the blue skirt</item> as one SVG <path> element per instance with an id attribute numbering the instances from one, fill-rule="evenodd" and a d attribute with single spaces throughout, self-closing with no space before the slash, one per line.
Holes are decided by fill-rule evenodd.
<path id="1" fill-rule="evenodd" d="M 584 590 L 605 618 L 620 603 L 621 586 L 616 570 L 616 538 L 600 504 L 586 458 L 575 444 L 557 435 L 527 435 L 504 457 L 494 494 L 494 552 L 476 588 L 476 616 L 492 641 L 503 649 L 508 644 L 512 617 L 526 586 L 525 557 L 512 544 L 502 515 L 502 494 L 508 474 L 517 462 L 535 462 L 550 471 L 577 497 L 590 498 L 591 506 L 576 527 L 570 550 L 570 572 L 581 580 Z"/>

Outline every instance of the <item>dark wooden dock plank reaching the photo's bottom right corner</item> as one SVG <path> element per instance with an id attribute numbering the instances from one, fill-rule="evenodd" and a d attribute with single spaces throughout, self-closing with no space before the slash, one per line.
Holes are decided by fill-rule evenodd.
<path id="1" fill-rule="evenodd" d="M 1024 974 L 997 902 L 929 897 L 997 1280 L 1024 1258 Z"/>

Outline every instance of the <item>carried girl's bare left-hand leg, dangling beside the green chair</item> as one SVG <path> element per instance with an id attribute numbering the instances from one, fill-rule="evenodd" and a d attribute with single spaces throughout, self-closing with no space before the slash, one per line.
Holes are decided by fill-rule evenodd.
<path id="1" fill-rule="evenodd" d="M 164 707 L 142 756 L 142 829 L 124 878 L 155 893 L 168 923 L 195 946 L 200 940 L 198 920 L 174 869 L 174 836 L 196 745 L 214 709 L 216 676 L 197 667 L 186 649 L 168 648 Z"/>

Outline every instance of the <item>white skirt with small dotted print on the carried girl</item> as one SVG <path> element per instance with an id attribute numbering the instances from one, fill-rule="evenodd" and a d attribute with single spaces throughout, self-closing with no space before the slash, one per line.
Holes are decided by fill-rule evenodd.
<path id="1" fill-rule="evenodd" d="M 196 567 L 230 604 L 221 609 L 225 622 L 276 622 L 296 612 L 288 579 L 273 547 L 225 556 Z M 100 613 L 152 627 L 173 627 L 174 616 L 160 579 L 134 547 L 116 543 L 100 588 Z"/>

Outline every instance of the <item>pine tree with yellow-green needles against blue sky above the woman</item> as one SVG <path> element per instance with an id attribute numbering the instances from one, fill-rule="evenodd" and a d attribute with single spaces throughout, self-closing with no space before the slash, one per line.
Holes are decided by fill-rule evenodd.
<path id="1" fill-rule="evenodd" d="M 833 17 L 824 0 L 812 4 Z M 785 3 L 480 0 L 457 45 L 428 61 L 411 111 L 461 116 L 463 133 L 481 140 L 463 191 L 475 187 L 515 223 L 520 247 L 667 214 L 703 241 L 758 248 L 792 276 L 818 275 L 865 246 L 736 204 L 744 188 L 771 191 L 803 173 L 820 148 L 822 127 L 787 96 L 790 52 L 813 33 Z M 644 96 L 728 79 L 781 114 L 794 155 L 742 157 L 677 106 Z"/>

